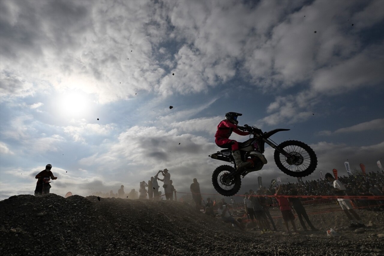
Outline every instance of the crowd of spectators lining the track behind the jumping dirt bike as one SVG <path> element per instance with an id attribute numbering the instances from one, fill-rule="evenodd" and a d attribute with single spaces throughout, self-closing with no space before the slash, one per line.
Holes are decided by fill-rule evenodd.
<path id="1" fill-rule="evenodd" d="M 159 177 L 161 175 L 161 177 Z M 159 191 L 159 181 L 163 183 L 162 188 L 164 194 L 161 196 L 162 191 Z M 348 196 L 383 196 L 384 194 L 384 174 L 369 172 L 366 175 L 351 175 L 339 176 L 340 181 L 345 186 L 345 195 Z M 219 217 L 225 222 L 232 223 L 240 229 L 245 227 L 254 227 L 259 229 L 262 233 L 269 232 L 271 229 L 276 230 L 276 225 L 271 217 L 269 209 L 277 207 L 281 211 L 281 217 L 286 226 L 287 232 L 290 232 L 289 225 L 296 231 L 295 224 L 292 218 L 296 214 L 300 220 L 303 230 L 317 230 L 311 223 L 310 218 L 305 210 L 305 205 L 313 203 L 329 203 L 334 202 L 334 199 L 314 199 L 314 198 L 284 198 L 281 195 L 292 196 L 337 196 L 337 190 L 334 189 L 333 182 L 330 180 L 310 180 L 295 183 L 285 183 L 270 187 L 260 187 L 258 190 L 250 190 L 249 193 L 244 193 L 243 200 L 236 202 L 233 197 L 227 203 L 224 198 L 212 198 L 212 196 L 203 198 L 200 185 L 197 179 L 194 178 L 193 183 L 190 185 L 189 195 L 181 196 L 180 201 L 187 202 L 195 207 L 197 211 L 202 211 L 212 217 Z M 160 170 L 156 175 L 152 176 L 148 182 L 142 181 L 140 183 L 139 191 L 132 189 L 129 193 L 124 193 L 124 186 L 114 194 L 111 190 L 110 193 L 94 193 L 100 197 L 119 197 L 129 199 L 166 199 L 177 200 L 175 188 L 170 180 L 170 173 L 167 169 Z M 175 194 L 175 198 L 174 198 Z M 188 193 L 183 193 L 188 194 Z M 255 196 L 257 195 L 257 196 Z M 265 195 L 265 196 L 263 196 Z M 351 200 L 354 207 L 366 207 L 369 209 L 384 209 L 384 201 L 380 200 L 367 200 L 367 199 L 353 199 Z M 343 209 L 344 210 L 344 209 Z M 233 213 L 243 213 L 243 218 L 233 218 Z M 347 214 L 347 213 L 346 213 Z M 238 214 L 238 216 L 240 216 Z M 245 219 L 244 219 L 245 217 Z M 359 224 L 359 223 L 358 223 Z M 307 228 L 308 226 L 308 228 Z"/>

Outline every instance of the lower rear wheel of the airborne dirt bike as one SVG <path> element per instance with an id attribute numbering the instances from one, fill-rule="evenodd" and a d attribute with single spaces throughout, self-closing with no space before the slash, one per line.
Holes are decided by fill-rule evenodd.
<path id="1" fill-rule="evenodd" d="M 240 175 L 233 175 L 234 173 L 235 168 L 230 165 L 220 165 L 215 169 L 212 173 L 212 184 L 218 193 L 233 196 L 240 190 Z"/>

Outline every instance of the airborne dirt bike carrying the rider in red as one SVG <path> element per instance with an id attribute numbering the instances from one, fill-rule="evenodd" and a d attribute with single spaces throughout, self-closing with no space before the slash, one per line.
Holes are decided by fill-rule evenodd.
<path id="1" fill-rule="evenodd" d="M 260 154 L 264 153 L 264 144 L 270 145 L 275 149 L 273 155 L 277 167 L 285 174 L 293 177 L 308 176 L 316 169 L 317 157 L 312 148 L 301 141 L 287 140 L 279 145 L 270 140 L 269 137 L 279 131 L 289 131 L 290 129 L 275 129 L 263 133 L 255 126 L 244 125 L 252 138 L 239 143 L 239 149 L 243 161 L 251 163 L 249 167 L 237 170 L 231 149 L 224 149 L 209 155 L 213 159 L 233 163 L 230 165 L 218 166 L 212 174 L 212 184 L 215 190 L 223 196 L 233 196 L 240 190 L 241 176 L 245 177 L 248 173 L 261 170 L 266 163 L 260 159 Z M 263 156 L 262 156 L 263 158 Z"/>

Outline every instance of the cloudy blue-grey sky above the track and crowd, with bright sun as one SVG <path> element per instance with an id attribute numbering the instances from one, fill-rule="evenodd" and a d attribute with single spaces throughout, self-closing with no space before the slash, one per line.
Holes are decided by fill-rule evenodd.
<path id="1" fill-rule="evenodd" d="M 384 164 L 384 1 L 0 1 L 0 199 L 139 188 L 168 168 L 214 193 L 228 111 L 288 128 L 317 170 Z M 173 106 L 172 109 L 169 106 Z M 248 137 L 232 135 L 239 141 Z M 280 177 L 269 163 L 242 190 Z"/>

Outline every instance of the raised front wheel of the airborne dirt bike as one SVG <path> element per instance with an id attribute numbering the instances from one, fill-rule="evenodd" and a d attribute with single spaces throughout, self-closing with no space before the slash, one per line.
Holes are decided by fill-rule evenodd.
<path id="1" fill-rule="evenodd" d="M 297 140 L 287 140 L 278 145 L 278 148 L 290 155 L 286 157 L 275 150 L 275 163 L 283 173 L 293 177 L 304 177 L 310 175 L 316 169 L 317 156 L 312 148 L 305 143 Z"/>

